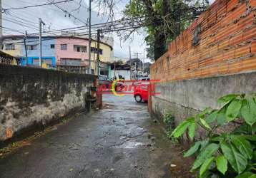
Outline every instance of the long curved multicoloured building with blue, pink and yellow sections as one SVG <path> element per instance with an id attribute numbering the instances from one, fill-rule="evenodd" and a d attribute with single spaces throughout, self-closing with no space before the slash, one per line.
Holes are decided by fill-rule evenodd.
<path id="1" fill-rule="evenodd" d="M 39 66 L 39 38 L 38 36 L 28 36 L 26 39 L 26 50 L 24 46 L 24 36 L 4 36 L 3 48 L 5 53 L 20 58 L 22 65 Z M 43 36 L 42 37 L 42 66 L 44 68 L 54 68 L 75 73 L 86 73 L 89 67 L 88 38 L 74 36 Z M 92 41 L 92 73 L 97 67 L 97 41 Z M 100 43 L 100 61 L 110 62 L 113 47 L 108 43 Z M 99 67 L 104 66 L 100 64 Z M 106 68 L 102 68 L 104 73 Z M 101 73 L 99 71 L 99 73 Z M 107 71 L 109 73 L 109 71 Z"/>

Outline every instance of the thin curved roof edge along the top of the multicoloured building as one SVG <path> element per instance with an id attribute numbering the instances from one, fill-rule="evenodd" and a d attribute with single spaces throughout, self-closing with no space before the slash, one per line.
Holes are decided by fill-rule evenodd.
<path id="1" fill-rule="evenodd" d="M 9 36 L 3 36 L 2 39 L 12 39 L 12 40 L 16 40 L 16 39 L 19 39 L 19 38 L 24 38 L 23 35 L 9 35 Z M 38 36 L 27 36 L 26 38 L 39 38 Z M 41 38 L 74 38 L 74 39 L 82 39 L 82 40 L 89 40 L 89 38 L 84 38 L 82 36 L 42 36 Z M 92 39 L 92 41 L 95 41 L 97 42 L 96 40 Z M 108 43 L 104 43 L 104 42 L 100 42 L 106 46 L 109 46 L 109 48 L 111 48 L 111 50 L 113 50 L 113 47 L 110 46 Z"/>

